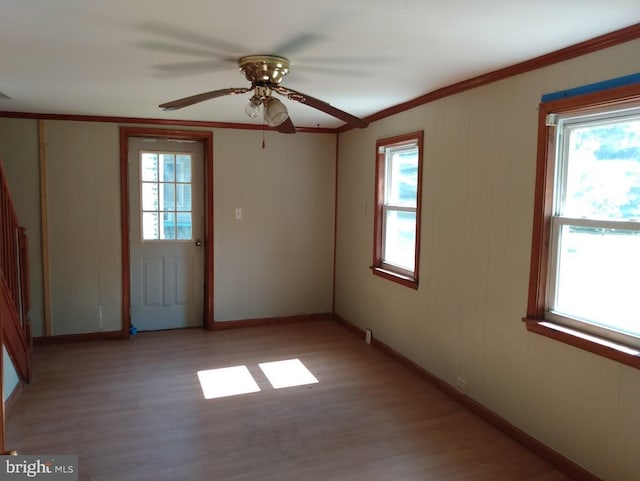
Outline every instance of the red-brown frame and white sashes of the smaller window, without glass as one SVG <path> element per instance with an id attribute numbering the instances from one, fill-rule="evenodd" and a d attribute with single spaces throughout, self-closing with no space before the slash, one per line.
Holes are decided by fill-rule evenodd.
<path id="1" fill-rule="evenodd" d="M 397 135 L 379 139 L 376 141 L 376 178 L 375 178 L 375 204 L 374 204 L 374 245 L 373 245 L 373 274 L 396 282 L 398 284 L 418 289 L 418 271 L 420 265 L 420 219 L 422 206 L 422 164 L 423 164 L 423 131 Z M 385 204 L 385 188 L 387 178 L 386 152 L 389 148 L 402 148 L 415 145 L 418 148 L 418 174 L 416 188 L 416 207 L 387 206 Z M 414 270 L 409 271 L 401 267 L 384 262 L 385 251 L 385 219 L 389 210 L 415 211 L 415 245 L 414 245 Z"/>

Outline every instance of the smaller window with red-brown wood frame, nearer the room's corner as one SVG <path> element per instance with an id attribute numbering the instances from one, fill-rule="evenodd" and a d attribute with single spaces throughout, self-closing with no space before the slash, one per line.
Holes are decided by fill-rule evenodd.
<path id="1" fill-rule="evenodd" d="M 418 288 L 422 132 L 376 142 L 373 273 Z"/>

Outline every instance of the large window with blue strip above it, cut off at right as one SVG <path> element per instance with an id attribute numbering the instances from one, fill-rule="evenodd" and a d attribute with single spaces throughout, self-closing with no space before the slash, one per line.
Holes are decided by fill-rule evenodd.
<path id="1" fill-rule="evenodd" d="M 541 104 L 527 324 L 640 367 L 640 86 Z"/>

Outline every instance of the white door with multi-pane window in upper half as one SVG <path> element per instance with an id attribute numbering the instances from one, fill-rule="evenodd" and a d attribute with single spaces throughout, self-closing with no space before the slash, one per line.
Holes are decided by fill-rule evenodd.
<path id="1" fill-rule="evenodd" d="M 203 325 L 201 142 L 129 139 L 131 324 L 139 331 Z"/>

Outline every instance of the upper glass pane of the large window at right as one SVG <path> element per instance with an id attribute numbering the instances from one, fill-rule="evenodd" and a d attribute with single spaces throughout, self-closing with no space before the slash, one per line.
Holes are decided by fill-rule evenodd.
<path id="1" fill-rule="evenodd" d="M 640 219 L 640 120 L 569 130 L 560 215 Z"/>

